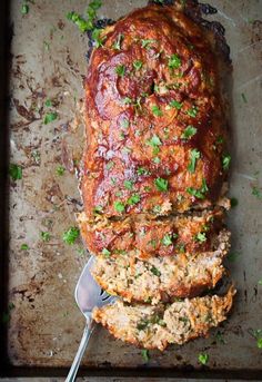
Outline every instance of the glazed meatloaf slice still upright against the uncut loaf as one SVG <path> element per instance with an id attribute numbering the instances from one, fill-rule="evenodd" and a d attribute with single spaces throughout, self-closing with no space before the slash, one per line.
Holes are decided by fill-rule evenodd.
<path id="1" fill-rule="evenodd" d="M 114 257 L 135 251 L 139 258 L 214 251 L 223 221 L 222 208 L 161 219 L 133 215 L 119 221 L 89 221 L 84 213 L 78 216 L 83 241 L 92 254 Z"/>

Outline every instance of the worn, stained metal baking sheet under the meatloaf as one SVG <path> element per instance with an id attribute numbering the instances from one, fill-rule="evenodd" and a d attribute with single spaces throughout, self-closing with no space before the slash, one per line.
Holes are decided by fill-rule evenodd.
<path id="1" fill-rule="evenodd" d="M 23 176 L 9 187 L 6 272 L 11 308 L 7 312 L 6 304 L 3 312 L 10 316 L 4 324 L 6 371 L 26 370 L 27 374 L 24 368 L 31 368 L 31 373 L 59 373 L 70 366 L 84 325 L 73 291 L 87 255 L 81 241 L 66 245 L 62 234 L 75 225 L 74 212 L 80 208 L 73 164 L 82 150 L 79 110 L 88 50 L 87 37 L 67 20 L 66 13 L 82 13 L 88 1 L 28 1 L 24 16 L 21 3 L 11 1 L 10 7 L 10 161 L 22 166 Z M 99 17 L 115 20 L 145 3 L 104 0 Z M 253 187 L 262 186 L 262 1 L 209 3 L 218 13 L 206 18 L 225 27 L 234 68 L 230 195 L 239 205 L 228 218 L 233 235 L 231 262 L 226 263 L 238 287 L 234 308 L 209 339 L 171 346 L 164 353 L 151 351 L 147 365 L 139 349 L 97 327 L 83 360 L 88 372 L 161 376 L 161 368 L 167 376 L 177 371 L 202 376 L 262 375 L 262 350 L 252 336 L 252 330 L 262 329 L 262 200 L 252 195 Z M 52 100 L 51 108 L 46 106 L 48 99 Z M 50 110 L 58 114 L 58 119 L 44 125 Z M 71 172 L 59 176 L 57 167 L 64 160 Z M 41 239 L 42 232 L 50 233 L 49 242 Z M 29 249 L 22 251 L 22 244 Z M 201 352 L 209 354 L 204 369 L 198 363 Z"/>

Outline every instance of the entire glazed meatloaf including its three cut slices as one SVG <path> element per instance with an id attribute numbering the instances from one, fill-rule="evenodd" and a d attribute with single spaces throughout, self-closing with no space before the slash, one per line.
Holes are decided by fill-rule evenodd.
<path id="1" fill-rule="evenodd" d="M 85 81 L 78 221 L 94 278 L 122 298 L 93 317 L 145 347 L 205 335 L 234 294 L 199 296 L 222 277 L 230 247 L 225 66 L 181 3 L 151 3 L 95 31 Z"/>

